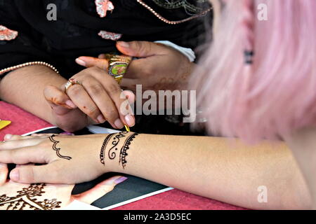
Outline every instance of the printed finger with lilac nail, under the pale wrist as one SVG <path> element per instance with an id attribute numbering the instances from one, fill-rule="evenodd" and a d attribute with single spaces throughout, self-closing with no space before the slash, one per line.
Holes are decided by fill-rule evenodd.
<path id="1" fill-rule="evenodd" d="M 117 184 L 125 181 L 126 179 L 127 178 L 124 176 L 113 176 L 110 179 L 98 183 L 98 185 L 91 190 L 87 190 L 80 195 L 74 195 L 74 199 L 86 204 L 92 204 L 100 197 L 103 197 L 104 195 L 112 191 Z"/>

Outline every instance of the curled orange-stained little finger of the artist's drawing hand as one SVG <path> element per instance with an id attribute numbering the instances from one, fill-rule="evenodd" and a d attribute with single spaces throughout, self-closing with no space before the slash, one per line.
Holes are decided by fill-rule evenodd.
<path id="1" fill-rule="evenodd" d="M 72 102 L 70 97 L 60 88 L 48 85 L 44 89 L 46 101 L 55 109 L 55 107 L 65 107 L 65 109 L 76 109 L 77 106 Z M 56 110 L 58 110 L 56 108 Z"/>

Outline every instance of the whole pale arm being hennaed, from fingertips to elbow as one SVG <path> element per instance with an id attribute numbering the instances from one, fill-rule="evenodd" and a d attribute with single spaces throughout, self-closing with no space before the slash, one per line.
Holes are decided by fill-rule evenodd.
<path id="1" fill-rule="evenodd" d="M 131 134 L 120 138 L 118 150 Z M 60 153 L 72 160 L 58 158 L 47 138 L 6 141 L 0 144 L 0 162 L 48 163 L 15 169 L 19 179 L 13 174 L 11 179 L 26 183 L 78 183 L 105 172 L 123 172 L 251 209 L 305 209 L 310 205 L 301 172 L 282 142 L 245 146 L 225 138 L 138 134 L 126 151 L 127 163 L 123 169 L 119 153 L 113 160 L 109 158 L 115 136 L 107 141 L 104 165 L 101 162 L 107 137 L 55 137 L 60 141 Z M 31 147 L 21 148 L 25 146 Z M 267 203 L 258 202 L 259 186 L 268 189 Z"/>

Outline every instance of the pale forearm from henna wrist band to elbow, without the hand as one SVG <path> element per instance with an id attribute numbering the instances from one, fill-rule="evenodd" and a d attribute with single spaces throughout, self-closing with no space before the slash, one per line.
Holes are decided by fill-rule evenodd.
<path id="1" fill-rule="evenodd" d="M 139 134 L 128 139 L 130 134 L 125 135 L 118 147 L 125 144 L 127 150 L 122 148 L 122 154 L 115 151 L 117 147 L 110 150 L 119 139 L 115 135 L 107 141 L 107 150 L 100 153 L 114 172 L 140 176 L 241 207 L 308 207 L 308 190 L 283 143 L 245 146 L 239 141 L 215 137 Z M 259 186 L 268 190 L 266 203 L 258 202 Z"/>

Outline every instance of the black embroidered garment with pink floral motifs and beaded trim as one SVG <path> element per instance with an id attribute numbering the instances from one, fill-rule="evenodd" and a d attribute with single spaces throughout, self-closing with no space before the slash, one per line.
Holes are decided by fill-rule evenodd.
<path id="1" fill-rule="evenodd" d="M 183 20 L 209 6 L 207 1 L 194 6 L 188 0 L 147 0 L 167 20 Z M 48 21 L 48 4 L 57 6 L 57 20 Z M 167 40 L 183 47 L 196 48 L 204 41 L 204 21 L 211 13 L 168 25 L 136 0 L 112 0 L 114 10 L 101 18 L 94 0 L 0 0 L 0 25 L 11 32 L 11 40 L 0 41 L 0 69 L 25 62 L 43 61 L 69 78 L 79 72 L 74 59 L 115 50 L 115 41 Z M 177 5 L 178 3 L 178 5 Z M 110 6 L 110 5 L 109 5 Z M 111 6 L 112 7 L 112 6 Z M 102 9 L 102 8 L 101 8 Z M 7 29 L 6 29 L 7 28 Z M 12 36 L 13 35 L 13 36 Z M 13 38 L 13 39 L 12 39 Z M 107 39 L 106 39 L 107 38 Z"/>

